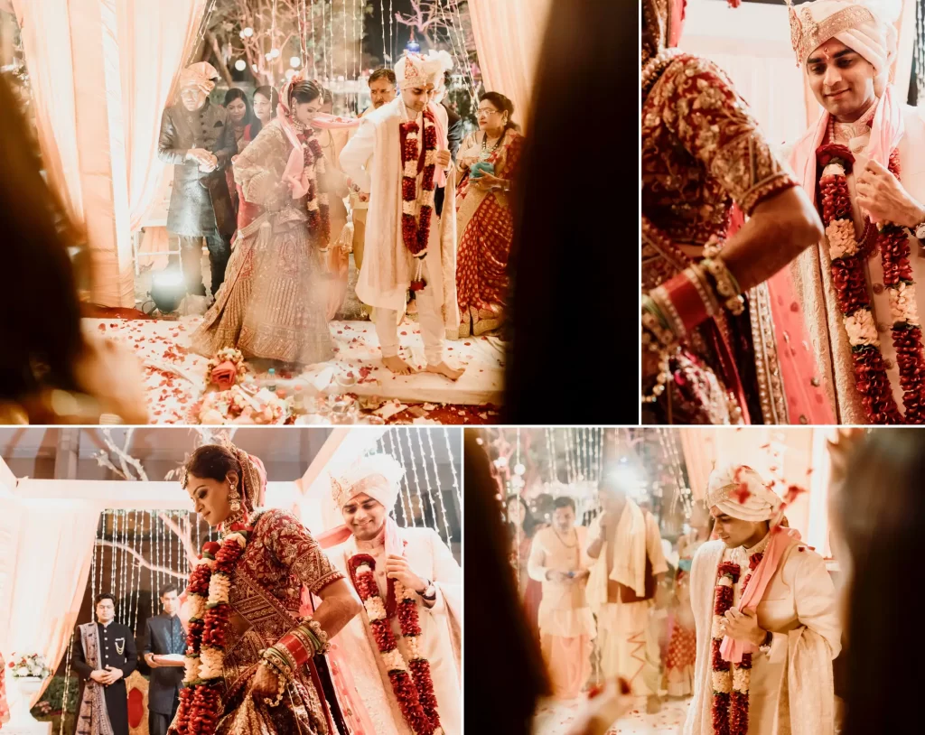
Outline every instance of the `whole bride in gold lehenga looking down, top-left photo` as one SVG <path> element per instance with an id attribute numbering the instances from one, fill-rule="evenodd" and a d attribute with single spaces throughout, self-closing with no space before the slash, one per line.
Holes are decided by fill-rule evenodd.
<path id="1" fill-rule="evenodd" d="M 325 159 L 314 128 L 357 123 L 315 120 L 321 104 L 321 86 L 296 75 L 279 95 L 277 116 L 235 160 L 235 181 L 259 215 L 238 231 L 225 283 L 193 333 L 200 354 L 234 347 L 245 357 L 302 365 L 334 356 L 326 318 L 333 285 L 324 264 L 327 192 L 336 196 L 342 175 Z"/>

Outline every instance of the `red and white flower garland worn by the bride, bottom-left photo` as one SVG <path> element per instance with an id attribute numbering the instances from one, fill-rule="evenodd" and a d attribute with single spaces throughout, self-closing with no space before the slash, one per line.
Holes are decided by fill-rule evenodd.
<path id="1" fill-rule="evenodd" d="M 190 601 L 190 622 L 183 677 L 179 692 L 177 731 L 179 735 L 211 735 L 221 716 L 220 687 L 225 660 L 225 631 L 231 607 L 228 590 L 231 572 L 247 545 L 253 527 L 235 523 L 221 544 L 203 545 L 186 593 Z"/>

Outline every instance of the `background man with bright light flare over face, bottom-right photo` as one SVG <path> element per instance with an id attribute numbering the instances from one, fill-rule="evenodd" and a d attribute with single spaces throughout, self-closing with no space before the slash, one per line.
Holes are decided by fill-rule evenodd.
<path id="1" fill-rule="evenodd" d="M 626 496 L 619 478 L 598 485 L 604 512 L 588 529 L 587 555 L 594 559 L 587 601 L 598 618 L 598 647 L 604 675 L 623 677 L 636 696 L 658 706 L 660 652 L 649 613 L 668 564 L 659 524 Z"/>

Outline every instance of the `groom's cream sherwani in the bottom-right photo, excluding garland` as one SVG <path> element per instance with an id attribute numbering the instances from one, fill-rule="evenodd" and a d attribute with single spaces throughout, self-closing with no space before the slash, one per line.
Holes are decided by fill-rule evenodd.
<path id="1" fill-rule="evenodd" d="M 710 541 L 694 557 L 690 594 L 697 625 L 697 664 L 685 735 L 713 735 L 710 646 L 717 569 L 721 561 L 734 561 L 744 570 L 734 587 L 737 606 L 748 557 L 763 550 L 768 538 L 770 534 L 747 551 Z M 765 589 L 758 624 L 771 631 L 773 642 L 769 654 L 752 656 L 748 735 L 832 735 L 832 660 L 841 650 L 842 633 L 835 590 L 822 557 L 796 539 L 784 551 Z"/>

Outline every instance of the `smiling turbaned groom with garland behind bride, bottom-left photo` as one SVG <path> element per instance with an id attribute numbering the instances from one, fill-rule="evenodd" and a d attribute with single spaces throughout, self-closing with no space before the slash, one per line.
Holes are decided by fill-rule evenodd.
<path id="1" fill-rule="evenodd" d="M 364 603 L 332 639 L 331 676 L 353 732 L 461 735 L 461 570 L 438 533 L 389 516 L 403 472 L 374 455 L 331 475 L 346 540 L 327 557 Z"/>

